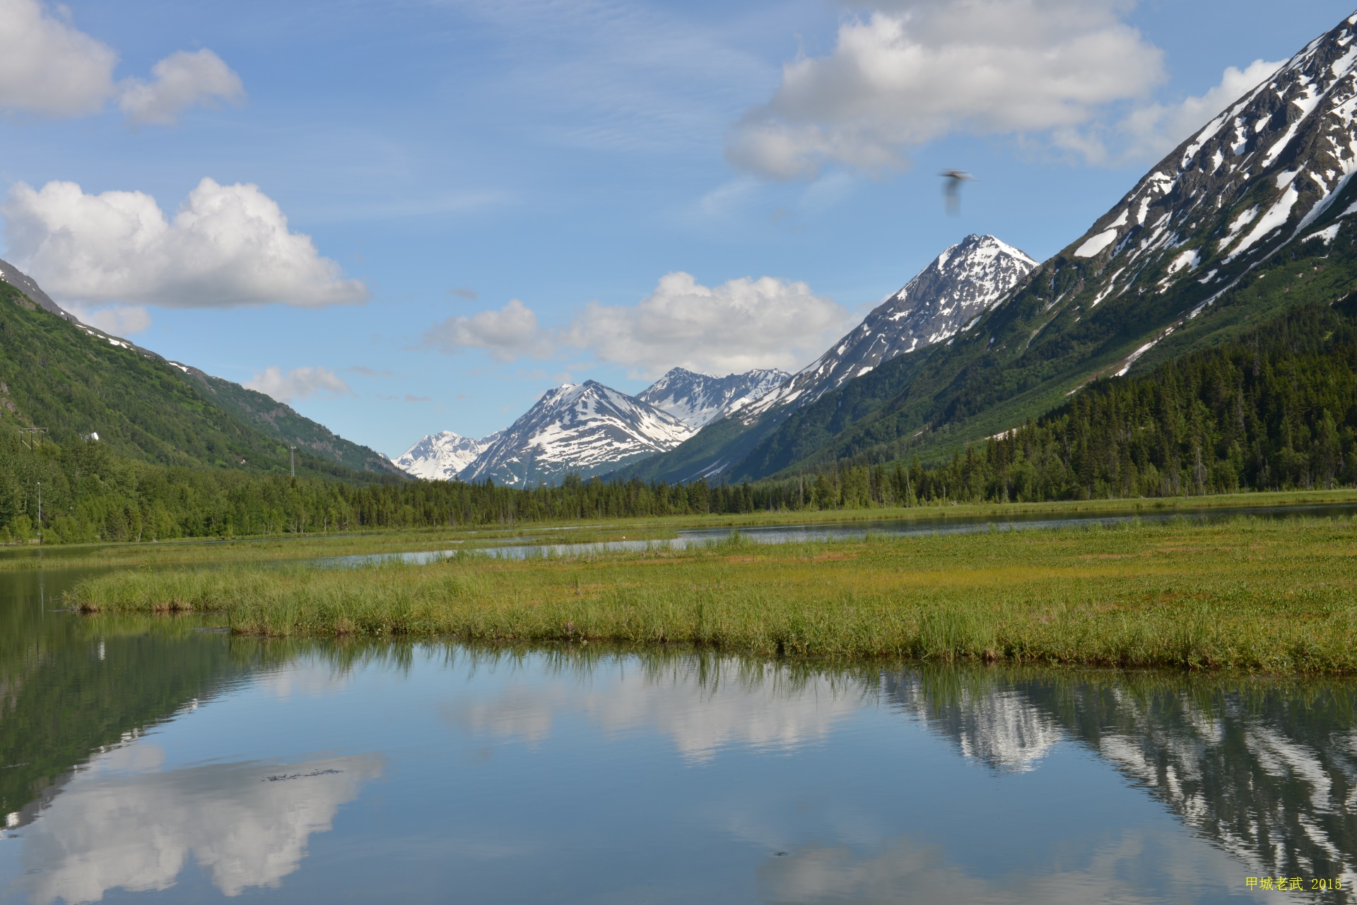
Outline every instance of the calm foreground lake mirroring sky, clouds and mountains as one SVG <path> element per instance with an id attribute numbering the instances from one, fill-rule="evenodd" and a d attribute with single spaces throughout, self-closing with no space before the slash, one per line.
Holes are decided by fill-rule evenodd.
<path id="1" fill-rule="evenodd" d="M 54 612 L 79 575 L 0 573 L 0 902 L 1345 902 L 1357 882 L 1352 682 L 263 642 Z"/>

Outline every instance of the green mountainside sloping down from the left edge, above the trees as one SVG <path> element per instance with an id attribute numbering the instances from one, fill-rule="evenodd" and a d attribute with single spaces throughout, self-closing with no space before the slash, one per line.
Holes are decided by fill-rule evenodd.
<path id="1" fill-rule="evenodd" d="M 46 427 L 61 442 L 98 433 L 117 452 L 163 464 L 361 478 L 402 472 L 292 408 L 170 362 L 80 323 L 0 262 L 0 425 Z M 370 479 L 365 478 L 365 479 Z"/>

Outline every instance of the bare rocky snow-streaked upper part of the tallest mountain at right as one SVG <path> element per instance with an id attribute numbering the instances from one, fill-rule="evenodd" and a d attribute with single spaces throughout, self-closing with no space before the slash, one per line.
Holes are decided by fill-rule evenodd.
<path id="1" fill-rule="evenodd" d="M 1049 280 L 1033 278 L 1049 282 L 1056 296 L 1046 305 L 1052 320 L 1118 301 L 1171 312 L 1129 354 L 1084 380 L 1126 373 L 1251 271 L 1276 265 L 1282 247 L 1297 255 L 1329 250 L 1354 223 L 1354 26 L 1357 15 L 1311 41 L 1048 262 Z M 1300 248 L 1311 242 L 1316 246 Z"/>

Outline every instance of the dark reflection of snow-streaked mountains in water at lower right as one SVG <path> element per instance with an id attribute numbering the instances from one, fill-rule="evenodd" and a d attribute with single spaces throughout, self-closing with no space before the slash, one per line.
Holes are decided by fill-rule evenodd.
<path id="1" fill-rule="evenodd" d="M 1357 689 L 924 670 L 883 693 L 968 757 L 1030 769 L 1083 744 L 1259 877 L 1357 882 Z"/>

